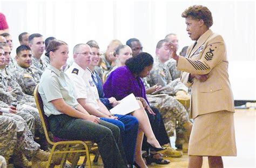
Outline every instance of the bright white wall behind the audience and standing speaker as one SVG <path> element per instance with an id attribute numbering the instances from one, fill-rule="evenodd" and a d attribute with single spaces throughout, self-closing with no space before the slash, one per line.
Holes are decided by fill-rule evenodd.
<path id="1" fill-rule="evenodd" d="M 27 31 L 64 40 L 70 51 L 75 44 L 91 39 L 105 50 L 112 39 L 125 43 L 135 37 L 142 41 L 145 52 L 154 55 L 157 42 L 167 33 L 178 35 L 180 49 L 192 43 L 181 12 L 193 4 L 211 10 L 211 29 L 226 41 L 235 100 L 256 100 L 254 1 L 1 0 L 0 11 L 8 19 L 15 48 L 18 34 Z"/>

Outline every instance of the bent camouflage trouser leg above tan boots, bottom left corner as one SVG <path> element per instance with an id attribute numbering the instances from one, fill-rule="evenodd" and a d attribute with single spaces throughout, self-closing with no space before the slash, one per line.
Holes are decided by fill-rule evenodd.
<path id="1" fill-rule="evenodd" d="M 17 141 L 14 149 L 15 159 L 18 159 L 22 154 L 26 156 L 29 160 L 35 157 L 40 145 L 33 140 L 33 135 L 29 130 L 28 125 L 21 116 L 15 114 L 4 114 L 15 120 L 17 125 Z"/>

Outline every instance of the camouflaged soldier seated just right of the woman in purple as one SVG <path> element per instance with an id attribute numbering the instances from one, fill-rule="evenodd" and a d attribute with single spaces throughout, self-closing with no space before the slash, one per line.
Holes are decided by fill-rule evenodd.
<path id="1" fill-rule="evenodd" d="M 179 126 L 185 129 L 185 136 L 186 136 L 185 139 L 186 141 L 188 141 L 188 137 L 190 136 L 190 132 L 192 128 L 192 123 L 188 119 L 187 110 L 181 103 L 177 101 L 176 98 L 181 95 L 185 97 L 188 101 L 190 101 L 190 97 L 186 95 L 187 87 L 180 82 L 180 79 L 176 79 L 172 81 L 171 74 L 165 65 L 165 62 L 169 60 L 169 57 L 170 57 L 170 52 L 165 50 L 165 47 L 164 47 L 164 44 L 167 42 L 168 42 L 167 40 L 160 40 L 158 42 L 157 48 L 156 48 L 157 59 L 154 62 L 154 66 L 149 76 L 147 76 L 147 81 L 149 82 L 150 86 L 156 86 L 158 84 L 163 87 L 168 86 L 172 88 L 173 93 L 171 92 L 167 93 L 170 95 L 170 98 L 168 98 L 169 99 L 168 101 L 166 101 L 166 98 L 160 99 L 160 100 L 154 100 L 154 99 L 157 99 L 156 97 L 154 97 L 153 100 L 156 102 L 158 101 L 160 103 L 159 106 L 161 106 L 162 108 L 167 107 L 166 105 L 164 105 L 164 102 L 166 102 L 167 104 L 169 104 L 170 107 L 172 107 L 172 108 L 169 108 L 169 110 L 171 110 L 171 113 L 166 113 L 169 110 L 165 109 L 163 110 L 164 114 L 162 114 L 162 116 L 163 118 L 166 118 L 166 120 L 169 117 L 172 118 L 172 120 L 169 122 L 173 122 L 172 125 L 174 125 L 174 130 L 177 127 L 176 123 L 178 122 Z M 165 92 L 162 92 L 162 93 L 165 93 Z M 176 96 L 176 98 L 172 96 Z M 161 107 L 159 107 L 159 109 L 161 109 Z"/>

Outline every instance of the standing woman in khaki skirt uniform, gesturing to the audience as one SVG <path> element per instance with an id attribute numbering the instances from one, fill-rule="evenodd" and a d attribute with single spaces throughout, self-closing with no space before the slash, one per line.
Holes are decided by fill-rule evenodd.
<path id="1" fill-rule="evenodd" d="M 165 47 L 177 61 L 177 69 L 183 71 L 181 81 L 192 87 L 190 117 L 194 124 L 188 145 L 188 167 L 201 167 L 203 156 L 208 156 L 210 167 L 223 167 L 221 156 L 237 155 L 225 42 L 209 29 L 212 14 L 205 6 L 190 6 L 181 16 L 186 18 L 186 30 L 196 43 L 188 47 L 187 57 L 177 55 L 172 43 Z"/>

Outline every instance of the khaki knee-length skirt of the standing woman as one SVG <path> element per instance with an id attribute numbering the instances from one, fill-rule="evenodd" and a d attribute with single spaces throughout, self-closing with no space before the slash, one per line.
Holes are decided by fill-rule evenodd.
<path id="1" fill-rule="evenodd" d="M 188 155 L 237 156 L 234 113 L 217 111 L 194 118 Z"/>

